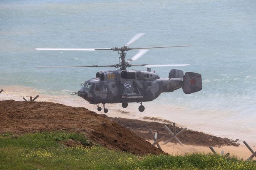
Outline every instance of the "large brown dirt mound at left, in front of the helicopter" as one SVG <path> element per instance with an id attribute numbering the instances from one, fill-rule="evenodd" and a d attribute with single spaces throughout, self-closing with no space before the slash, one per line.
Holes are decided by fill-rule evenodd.
<path id="1" fill-rule="evenodd" d="M 82 131 L 95 143 L 130 153 L 163 153 L 134 132 L 85 108 L 52 102 L 0 101 L 0 133 L 51 130 Z"/>

